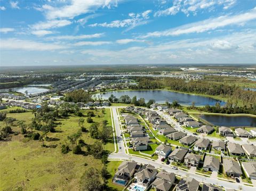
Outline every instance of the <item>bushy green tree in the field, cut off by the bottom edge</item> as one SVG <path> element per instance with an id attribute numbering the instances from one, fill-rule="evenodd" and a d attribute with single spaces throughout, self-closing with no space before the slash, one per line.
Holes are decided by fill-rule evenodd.
<path id="1" fill-rule="evenodd" d="M 81 177 L 81 189 L 83 191 L 101 191 L 103 184 L 100 179 L 100 172 L 91 167 L 90 169 L 86 170 Z"/>

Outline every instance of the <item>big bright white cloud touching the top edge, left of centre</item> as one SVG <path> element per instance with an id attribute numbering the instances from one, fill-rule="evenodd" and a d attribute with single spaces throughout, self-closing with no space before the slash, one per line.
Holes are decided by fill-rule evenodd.
<path id="1" fill-rule="evenodd" d="M 47 19 L 74 18 L 75 16 L 93 12 L 100 7 L 116 6 L 117 0 L 71 0 L 61 7 L 47 7 L 44 9 Z"/>

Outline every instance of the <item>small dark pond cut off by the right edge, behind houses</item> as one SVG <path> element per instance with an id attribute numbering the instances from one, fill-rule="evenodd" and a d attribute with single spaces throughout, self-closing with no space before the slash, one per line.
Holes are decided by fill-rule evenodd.
<path id="1" fill-rule="evenodd" d="M 256 127 L 256 118 L 249 116 L 198 115 L 215 126 Z"/>

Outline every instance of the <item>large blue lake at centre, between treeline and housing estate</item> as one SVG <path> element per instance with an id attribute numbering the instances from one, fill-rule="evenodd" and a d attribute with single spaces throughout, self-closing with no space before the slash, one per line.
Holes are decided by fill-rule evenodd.
<path id="1" fill-rule="evenodd" d="M 110 95 L 113 94 L 117 98 L 122 95 L 128 95 L 129 97 L 137 96 L 139 98 L 145 98 L 145 102 L 148 102 L 149 99 L 155 99 L 156 103 L 165 103 L 173 102 L 177 100 L 182 105 L 191 105 L 192 102 L 195 102 L 195 105 L 215 105 L 216 102 L 219 102 L 221 105 L 224 105 L 225 102 L 219 101 L 217 99 L 213 99 L 210 97 L 198 96 L 198 95 L 190 95 L 190 94 L 182 94 L 177 92 L 171 92 L 167 90 L 134 90 L 134 91 L 115 91 L 115 92 L 106 92 L 95 94 L 96 97 L 98 95 L 102 95 L 103 99 L 108 99 Z"/>

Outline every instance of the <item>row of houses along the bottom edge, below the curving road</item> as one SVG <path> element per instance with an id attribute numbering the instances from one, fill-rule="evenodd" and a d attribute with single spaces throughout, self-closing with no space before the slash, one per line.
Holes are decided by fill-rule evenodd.
<path id="1" fill-rule="evenodd" d="M 181 178 L 176 183 L 177 179 L 174 173 L 165 170 L 158 171 L 151 164 L 123 161 L 113 177 L 113 183 L 126 186 L 132 179 L 132 183 L 128 186 L 129 190 L 136 190 L 138 186 L 144 189 L 151 186 L 151 188 L 155 188 L 157 191 L 169 191 L 172 186 L 175 186 L 177 191 L 197 191 L 200 186 L 200 182 L 191 177 Z M 203 184 L 202 190 L 222 191 L 222 188 L 211 184 Z"/>

